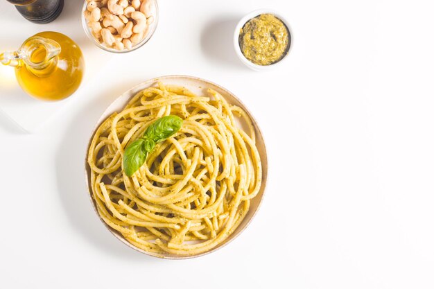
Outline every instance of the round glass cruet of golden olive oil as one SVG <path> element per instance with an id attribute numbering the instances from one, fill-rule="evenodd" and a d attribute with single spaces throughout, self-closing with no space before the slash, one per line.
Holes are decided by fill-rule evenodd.
<path id="1" fill-rule="evenodd" d="M 37 33 L 19 50 L 1 53 L 0 62 L 15 67 L 21 88 L 41 100 L 61 100 L 73 94 L 85 69 L 78 45 L 57 32 Z"/>

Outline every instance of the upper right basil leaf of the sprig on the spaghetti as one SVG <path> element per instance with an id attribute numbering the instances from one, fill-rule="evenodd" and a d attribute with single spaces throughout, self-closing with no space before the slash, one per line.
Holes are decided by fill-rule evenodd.
<path id="1" fill-rule="evenodd" d="M 148 126 L 144 139 L 152 139 L 155 143 L 164 141 L 180 130 L 182 119 L 179 116 L 163 116 Z"/>

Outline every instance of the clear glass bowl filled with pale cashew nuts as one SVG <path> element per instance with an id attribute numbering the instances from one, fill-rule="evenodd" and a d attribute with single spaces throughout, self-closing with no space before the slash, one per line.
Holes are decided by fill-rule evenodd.
<path id="1" fill-rule="evenodd" d="M 85 18 L 95 39 L 130 50 L 146 37 L 156 17 L 155 0 L 86 0 Z"/>

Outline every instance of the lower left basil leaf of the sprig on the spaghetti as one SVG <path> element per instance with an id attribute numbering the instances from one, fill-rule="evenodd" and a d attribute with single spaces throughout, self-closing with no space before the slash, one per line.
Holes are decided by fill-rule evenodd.
<path id="1" fill-rule="evenodd" d="M 148 151 L 144 148 L 144 139 L 137 139 L 130 143 L 123 152 L 123 170 L 128 177 L 136 172 L 146 161 Z"/>

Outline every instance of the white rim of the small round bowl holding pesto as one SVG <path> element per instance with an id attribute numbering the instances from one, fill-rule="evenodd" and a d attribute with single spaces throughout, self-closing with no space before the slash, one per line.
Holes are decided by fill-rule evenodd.
<path id="1" fill-rule="evenodd" d="M 284 58 L 282 58 L 281 60 L 279 60 L 278 62 L 275 62 L 273 64 L 268 64 L 268 65 L 258 65 L 258 64 L 254 64 L 253 62 L 251 62 L 250 60 L 248 60 L 247 58 L 245 58 L 243 51 L 241 51 L 241 47 L 240 47 L 240 43 L 239 43 L 239 36 L 240 36 L 240 31 L 241 28 L 243 28 L 244 24 L 246 24 L 250 19 L 253 19 L 254 17 L 257 17 L 261 14 L 272 14 L 275 15 L 275 17 L 279 18 L 282 22 L 284 22 L 286 28 L 288 28 L 288 36 L 289 36 L 289 47 L 288 47 L 288 51 L 286 52 L 286 55 L 284 56 Z M 235 49 L 235 53 L 236 55 L 238 55 L 238 58 L 241 60 L 241 62 L 243 62 L 243 64 L 245 64 L 246 67 L 249 67 L 250 69 L 256 70 L 256 71 L 263 71 L 263 70 L 269 70 L 269 69 L 273 69 L 277 66 L 280 66 L 283 62 L 285 62 L 288 58 L 288 55 L 291 51 L 293 47 L 293 32 L 289 26 L 288 21 L 285 19 L 285 17 L 283 15 L 281 15 L 279 12 L 275 11 L 275 10 L 270 10 L 270 9 L 258 9 L 258 10 L 254 10 L 250 13 L 248 13 L 248 15 L 245 15 L 243 18 L 241 18 L 241 20 L 238 22 L 238 24 L 236 24 L 235 27 L 235 31 L 234 31 L 234 49 Z"/>

